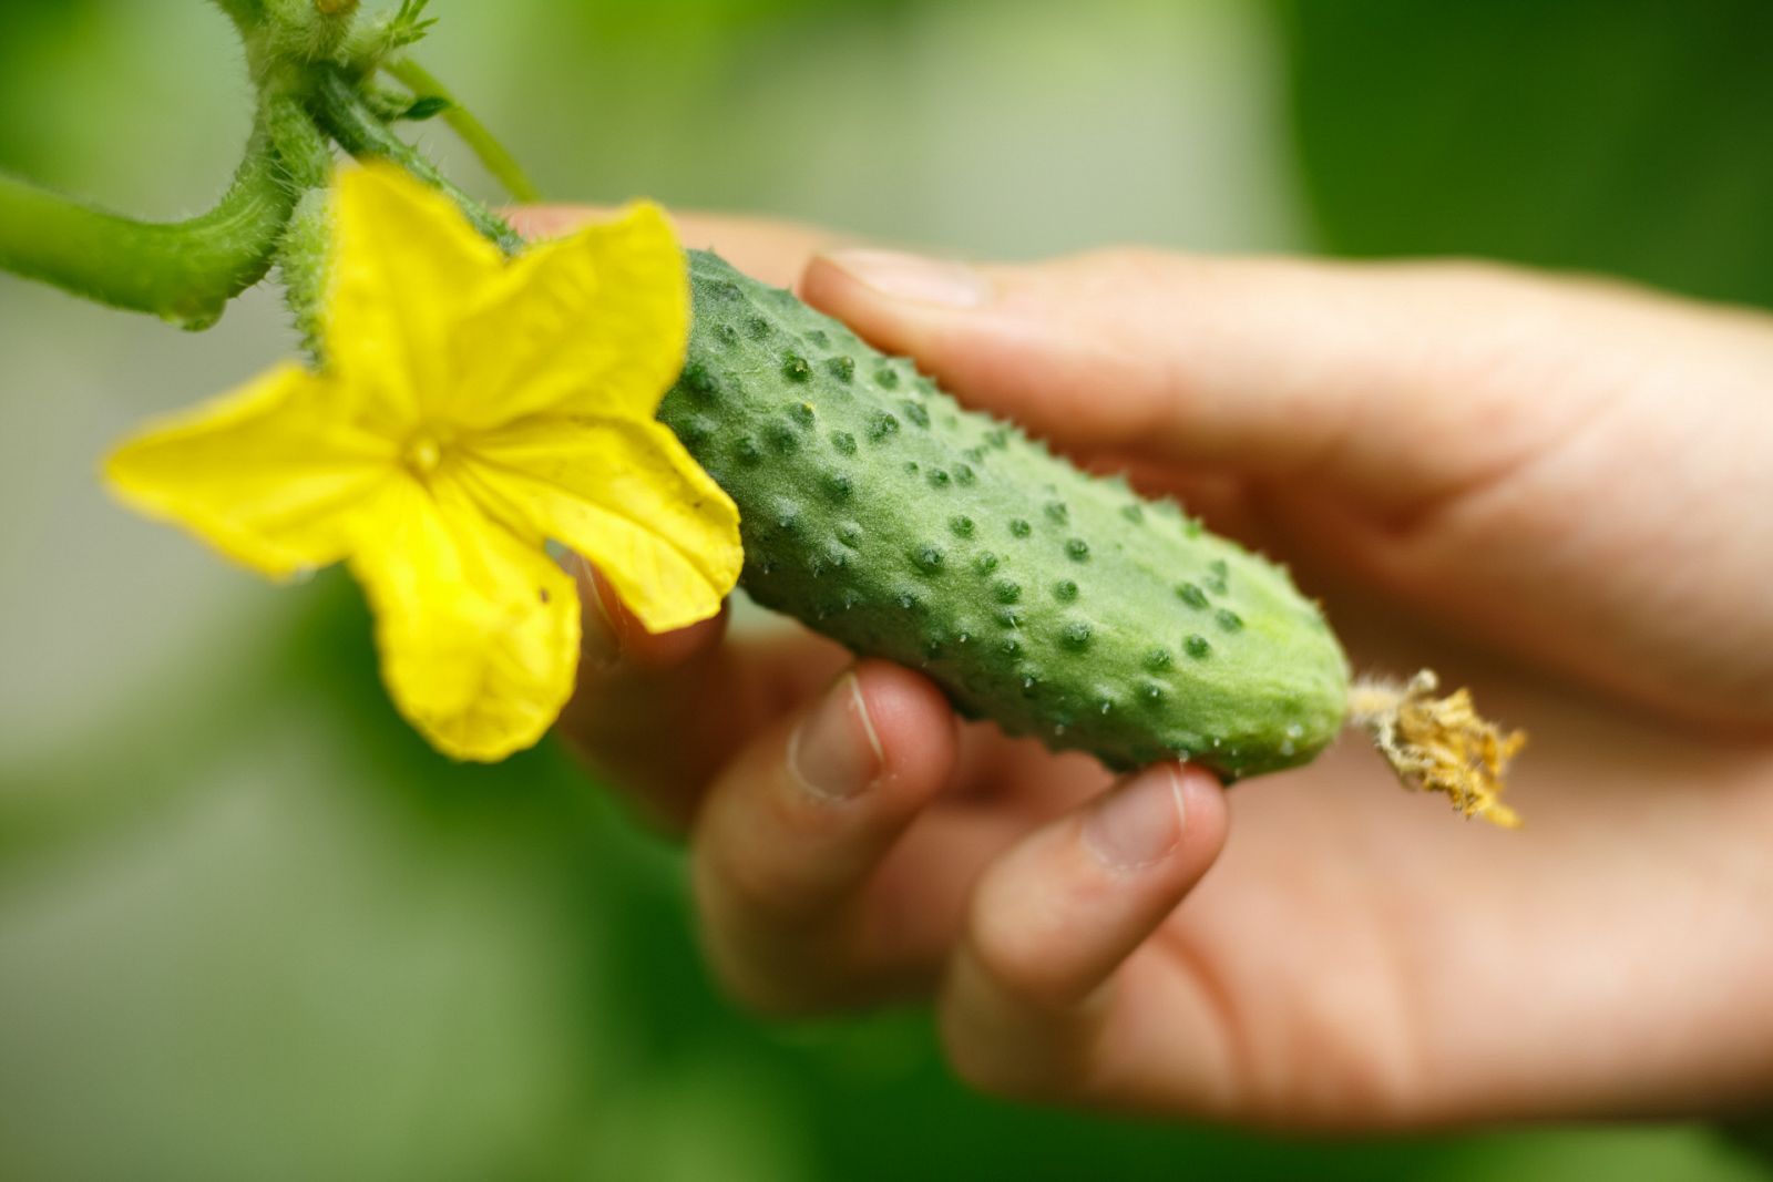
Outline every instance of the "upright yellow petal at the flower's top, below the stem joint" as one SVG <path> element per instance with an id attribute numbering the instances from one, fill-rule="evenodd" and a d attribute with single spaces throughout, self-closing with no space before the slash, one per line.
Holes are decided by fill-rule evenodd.
<path id="1" fill-rule="evenodd" d="M 399 434 L 454 390 L 456 324 L 505 275 L 456 204 L 387 165 L 339 174 L 326 360 L 360 413 Z"/>

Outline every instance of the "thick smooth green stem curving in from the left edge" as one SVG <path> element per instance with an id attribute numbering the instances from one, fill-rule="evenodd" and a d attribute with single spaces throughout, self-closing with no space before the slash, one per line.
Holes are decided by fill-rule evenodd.
<path id="1" fill-rule="evenodd" d="M 257 284 L 296 204 L 273 126 L 289 99 L 259 110 L 246 158 L 222 200 L 186 222 L 138 222 L 0 175 L 0 269 L 76 296 L 207 328 Z"/>

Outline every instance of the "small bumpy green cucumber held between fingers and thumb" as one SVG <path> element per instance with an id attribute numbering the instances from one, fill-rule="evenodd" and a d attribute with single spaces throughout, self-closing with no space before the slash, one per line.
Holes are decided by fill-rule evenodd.
<path id="1" fill-rule="evenodd" d="M 690 252 L 660 418 L 739 507 L 750 595 L 972 718 L 1243 778 L 1340 730 L 1347 659 L 1287 574 L 961 409 L 791 292 Z"/>

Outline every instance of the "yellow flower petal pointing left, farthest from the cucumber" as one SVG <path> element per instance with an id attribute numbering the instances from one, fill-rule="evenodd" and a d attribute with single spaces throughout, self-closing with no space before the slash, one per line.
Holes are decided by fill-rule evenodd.
<path id="1" fill-rule="evenodd" d="M 152 424 L 105 464 L 112 491 L 271 578 L 337 562 L 349 510 L 394 471 L 385 439 L 340 416 L 340 392 L 296 365 Z"/>

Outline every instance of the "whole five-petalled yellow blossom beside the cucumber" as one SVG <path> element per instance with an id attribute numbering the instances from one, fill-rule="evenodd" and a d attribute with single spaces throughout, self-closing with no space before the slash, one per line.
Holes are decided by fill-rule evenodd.
<path id="1" fill-rule="evenodd" d="M 715 615 L 738 510 L 652 415 L 688 338 L 658 207 L 507 262 L 385 167 L 337 181 L 326 370 L 284 365 L 110 457 L 112 489 L 271 578 L 344 560 L 381 673 L 441 751 L 534 744 L 573 691 L 553 539 L 645 627 Z"/>

